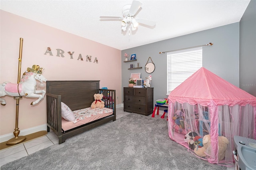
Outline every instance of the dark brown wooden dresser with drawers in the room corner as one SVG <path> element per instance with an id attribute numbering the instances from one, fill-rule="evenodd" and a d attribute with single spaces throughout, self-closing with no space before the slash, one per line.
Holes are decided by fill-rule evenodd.
<path id="1" fill-rule="evenodd" d="M 124 87 L 124 111 L 148 116 L 153 113 L 153 87 Z"/>

